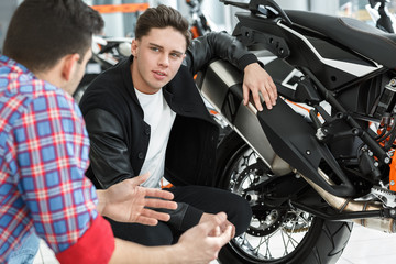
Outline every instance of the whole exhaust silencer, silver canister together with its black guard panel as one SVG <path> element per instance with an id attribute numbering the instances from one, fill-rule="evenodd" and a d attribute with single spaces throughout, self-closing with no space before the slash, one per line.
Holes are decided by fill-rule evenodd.
<path id="1" fill-rule="evenodd" d="M 262 155 L 275 174 L 282 175 L 287 170 L 285 165 L 274 167 L 275 157 L 279 156 L 329 193 L 342 197 L 354 195 L 354 188 L 333 155 L 327 145 L 316 140 L 316 131 L 301 116 L 293 111 L 282 99 L 277 100 L 273 110 L 265 109 L 255 116 L 242 103 L 241 84 L 241 73 L 221 59 L 208 66 L 205 80 L 200 74 L 197 78 L 204 97 Z M 311 154 L 307 155 L 307 151 Z M 336 172 L 340 185 L 331 186 L 320 176 L 318 168 L 322 162 Z M 282 169 L 278 170 L 278 167 Z"/>

